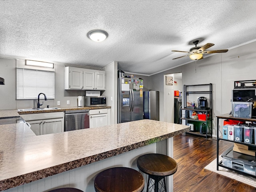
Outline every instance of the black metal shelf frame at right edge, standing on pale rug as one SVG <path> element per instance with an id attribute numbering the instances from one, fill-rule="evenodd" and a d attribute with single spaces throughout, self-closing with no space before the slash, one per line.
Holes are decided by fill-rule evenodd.
<path id="1" fill-rule="evenodd" d="M 248 143 L 244 143 L 244 142 L 237 142 L 235 140 L 223 139 L 222 136 L 219 136 L 219 130 L 218 130 L 219 120 L 220 119 L 230 119 L 230 120 L 239 120 L 239 121 L 247 121 L 247 122 L 256 122 L 256 119 L 251 119 L 251 118 L 235 118 L 235 117 L 233 117 L 230 114 L 223 114 L 223 115 L 216 116 L 216 117 L 217 117 L 217 170 L 219 170 L 219 166 L 220 166 L 220 167 L 223 167 L 223 168 L 226 168 L 226 169 L 229 169 L 229 170 L 236 171 L 236 172 L 238 172 L 240 174 L 256 178 L 255 175 L 248 174 L 248 173 L 242 172 L 240 170 L 236 170 L 236 169 L 224 166 L 222 164 L 222 160 L 219 161 L 219 141 L 220 140 L 225 140 L 225 141 L 228 141 L 228 142 L 239 143 L 239 144 L 243 144 L 243 145 L 247 145 L 247 146 L 254 146 L 254 147 L 256 147 L 256 145 L 255 144 L 248 144 Z"/>

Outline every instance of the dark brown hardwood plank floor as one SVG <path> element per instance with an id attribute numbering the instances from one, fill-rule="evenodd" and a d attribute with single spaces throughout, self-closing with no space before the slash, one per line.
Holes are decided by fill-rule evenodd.
<path id="1" fill-rule="evenodd" d="M 182 134 L 174 137 L 174 192 L 256 192 L 256 188 L 222 176 L 204 167 L 216 158 L 217 141 Z M 220 141 L 220 153 L 233 144 Z"/>

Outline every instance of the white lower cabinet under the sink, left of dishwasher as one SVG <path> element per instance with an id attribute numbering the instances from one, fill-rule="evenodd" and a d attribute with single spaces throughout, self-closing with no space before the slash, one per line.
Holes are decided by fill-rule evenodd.
<path id="1" fill-rule="evenodd" d="M 64 112 L 26 114 L 21 117 L 36 135 L 64 132 Z"/>

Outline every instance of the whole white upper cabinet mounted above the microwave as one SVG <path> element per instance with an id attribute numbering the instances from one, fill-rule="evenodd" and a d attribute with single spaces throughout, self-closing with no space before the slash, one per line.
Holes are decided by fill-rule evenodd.
<path id="1" fill-rule="evenodd" d="M 65 67 L 65 89 L 105 90 L 105 71 Z"/>

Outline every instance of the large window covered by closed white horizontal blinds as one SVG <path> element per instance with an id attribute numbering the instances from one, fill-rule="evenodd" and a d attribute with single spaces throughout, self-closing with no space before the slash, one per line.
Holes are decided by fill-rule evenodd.
<path id="1" fill-rule="evenodd" d="M 54 99 L 55 74 L 51 71 L 40 71 L 16 68 L 16 99 L 37 99 L 44 93 L 47 99 Z M 44 95 L 40 95 L 44 98 Z"/>

